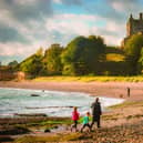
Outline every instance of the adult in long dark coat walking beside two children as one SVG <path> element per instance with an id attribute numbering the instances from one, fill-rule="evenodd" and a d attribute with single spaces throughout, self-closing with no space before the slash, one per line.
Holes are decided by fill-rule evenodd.
<path id="1" fill-rule="evenodd" d="M 95 99 L 95 102 L 92 103 L 92 123 L 91 123 L 91 130 L 93 124 L 96 122 L 96 126 L 101 127 L 100 125 L 100 116 L 102 114 L 101 111 L 101 103 L 99 102 L 99 98 Z"/>

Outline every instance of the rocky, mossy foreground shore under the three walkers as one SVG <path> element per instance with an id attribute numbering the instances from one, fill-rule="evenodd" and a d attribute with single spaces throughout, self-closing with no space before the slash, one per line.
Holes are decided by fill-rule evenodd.
<path id="1" fill-rule="evenodd" d="M 125 102 L 111 106 L 102 115 L 102 127 L 93 132 L 71 132 L 71 119 L 25 114 L 14 119 L 0 119 L 0 142 L 9 143 L 142 143 L 143 102 Z M 81 127 L 79 123 L 78 127 Z M 60 134 L 60 136 L 59 136 Z M 41 141 L 41 142 L 40 142 Z"/>

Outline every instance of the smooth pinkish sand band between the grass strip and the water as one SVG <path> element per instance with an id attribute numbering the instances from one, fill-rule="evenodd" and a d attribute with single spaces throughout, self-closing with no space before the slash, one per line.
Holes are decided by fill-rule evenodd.
<path id="1" fill-rule="evenodd" d="M 33 82 L 4 81 L 0 88 L 38 89 L 54 91 L 84 92 L 91 95 L 124 98 L 131 101 L 143 100 L 143 82 Z M 127 88 L 131 95 L 127 96 Z"/>

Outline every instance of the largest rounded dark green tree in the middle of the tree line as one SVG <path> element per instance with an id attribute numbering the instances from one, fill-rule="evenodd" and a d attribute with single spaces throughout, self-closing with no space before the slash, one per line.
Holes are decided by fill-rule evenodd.
<path id="1" fill-rule="evenodd" d="M 95 72 L 99 55 L 105 45 L 100 37 L 78 37 L 65 48 L 62 54 L 63 74 L 81 75 Z"/>

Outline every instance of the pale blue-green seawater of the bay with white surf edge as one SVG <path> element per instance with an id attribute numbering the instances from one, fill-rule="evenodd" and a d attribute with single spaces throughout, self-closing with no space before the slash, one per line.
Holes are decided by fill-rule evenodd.
<path id="1" fill-rule="evenodd" d="M 37 94 L 39 96 L 31 96 Z M 78 106 L 80 114 L 90 111 L 95 96 L 81 92 L 61 92 L 0 88 L 0 118 L 16 113 L 45 113 L 49 116 L 70 116 L 72 108 Z M 122 103 L 122 99 L 100 98 L 102 110 Z"/>

